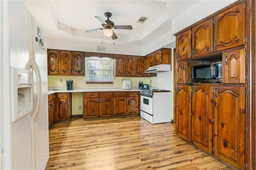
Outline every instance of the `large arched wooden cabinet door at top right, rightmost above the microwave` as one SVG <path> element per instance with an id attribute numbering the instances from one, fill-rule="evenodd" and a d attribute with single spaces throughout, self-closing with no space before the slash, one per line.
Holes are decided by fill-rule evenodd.
<path id="1" fill-rule="evenodd" d="M 244 2 L 217 15 L 214 21 L 214 51 L 244 45 Z"/>

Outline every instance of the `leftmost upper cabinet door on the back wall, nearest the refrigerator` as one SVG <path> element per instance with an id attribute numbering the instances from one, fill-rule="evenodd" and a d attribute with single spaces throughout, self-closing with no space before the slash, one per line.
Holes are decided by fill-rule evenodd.
<path id="1" fill-rule="evenodd" d="M 48 75 L 59 73 L 59 51 L 48 50 Z"/>

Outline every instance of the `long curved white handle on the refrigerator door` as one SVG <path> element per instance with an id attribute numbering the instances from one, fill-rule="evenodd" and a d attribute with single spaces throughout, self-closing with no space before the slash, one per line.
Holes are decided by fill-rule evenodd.
<path id="1" fill-rule="evenodd" d="M 41 82 L 41 75 L 39 72 L 39 67 L 35 61 L 35 59 L 30 59 L 30 65 L 32 66 L 34 73 L 36 74 L 36 91 L 37 91 L 37 103 L 34 113 L 32 114 L 32 122 L 36 121 L 38 113 L 41 109 L 42 105 L 42 82 Z"/>

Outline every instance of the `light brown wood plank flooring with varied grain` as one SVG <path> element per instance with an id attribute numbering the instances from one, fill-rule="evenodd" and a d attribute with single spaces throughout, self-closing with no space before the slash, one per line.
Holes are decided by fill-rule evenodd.
<path id="1" fill-rule="evenodd" d="M 46 170 L 230 170 L 175 134 L 175 124 L 140 117 L 72 118 L 49 130 Z"/>

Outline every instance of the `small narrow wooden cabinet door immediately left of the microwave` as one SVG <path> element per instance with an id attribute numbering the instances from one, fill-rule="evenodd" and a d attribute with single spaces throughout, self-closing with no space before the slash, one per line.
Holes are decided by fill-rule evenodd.
<path id="1" fill-rule="evenodd" d="M 188 62 L 182 61 L 176 63 L 176 83 L 186 83 L 187 82 L 187 67 Z"/>

